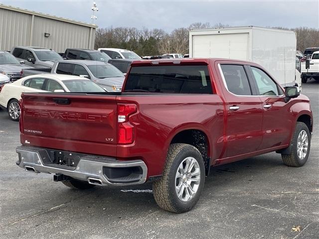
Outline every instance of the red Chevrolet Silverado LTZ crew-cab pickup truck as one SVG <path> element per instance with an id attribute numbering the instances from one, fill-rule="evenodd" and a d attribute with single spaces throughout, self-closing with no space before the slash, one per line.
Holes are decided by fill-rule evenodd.
<path id="1" fill-rule="evenodd" d="M 121 93 L 24 93 L 20 104 L 18 166 L 77 189 L 151 181 L 175 213 L 196 204 L 210 166 L 272 151 L 304 165 L 313 131 L 297 87 L 229 59 L 135 61 Z"/>

